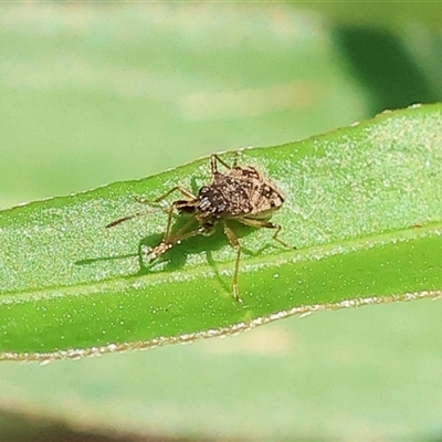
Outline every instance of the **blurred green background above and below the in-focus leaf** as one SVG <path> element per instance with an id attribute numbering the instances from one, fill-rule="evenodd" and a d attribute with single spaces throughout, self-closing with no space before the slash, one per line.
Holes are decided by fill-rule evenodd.
<path id="1" fill-rule="evenodd" d="M 419 2 L 3 3 L 0 208 L 441 101 L 441 25 Z M 2 364 L 0 441 L 438 439 L 441 314 L 371 306 Z"/>

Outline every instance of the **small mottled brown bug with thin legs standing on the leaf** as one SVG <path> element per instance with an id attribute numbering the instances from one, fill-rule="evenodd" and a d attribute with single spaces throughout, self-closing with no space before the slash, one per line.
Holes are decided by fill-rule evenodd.
<path id="1" fill-rule="evenodd" d="M 220 171 L 219 166 L 225 170 Z M 238 274 L 240 269 L 241 246 L 232 230 L 232 221 L 253 228 L 275 230 L 272 239 L 285 248 L 290 248 L 278 238 L 281 225 L 270 221 L 273 212 L 282 207 L 284 197 L 281 191 L 262 173 L 251 166 L 238 166 L 238 154 L 233 165 L 229 166 L 218 155 L 210 157 L 211 179 L 209 185 L 199 189 L 194 196 L 180 186 L 176 186 L 154 201 L 144 201 L 148 204 L 158 204 L 171 193 L 179 192 L 183 199 L 173 201 L 167 209 L 168 220 L 166 233 L 161 242 L 150 248 L 146 254 L 147 262 L 151 262 L 170 250 L 175 244 L 197 235 L 210 235 L 215 225 L 221 223 L 232 248 L 236 251 L 233 273 L 233 297 L 241 302 Z M 120 222 L 135 217 L 147 214 L 147 211 L 137 212 L 115 220 L 106 225 L 113 228 Z M 188 215 L 189 220 L 172 233 L 172 218 L 175 214 Z M 194 227 L 194 224 L 197 224 Z"/>

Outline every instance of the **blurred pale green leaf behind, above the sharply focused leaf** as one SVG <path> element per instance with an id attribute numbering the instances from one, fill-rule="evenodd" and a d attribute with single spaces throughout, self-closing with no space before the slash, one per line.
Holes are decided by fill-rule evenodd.
<path id="1" fill-rule="evenodd" d="M 367 115 L 320 19 L 284 6 L 3 6 L 0 22 L 3 208 Z"/>

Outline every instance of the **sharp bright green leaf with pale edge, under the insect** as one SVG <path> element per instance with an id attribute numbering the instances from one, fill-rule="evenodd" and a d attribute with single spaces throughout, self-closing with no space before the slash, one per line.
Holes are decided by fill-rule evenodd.
<path id="1" fill-rule="evenodd" d="M 441 105 L 245 149 L 239 164 L 281 188 L 286 201 L 272 220 L 296 246 L 282 248 L 266 229 L 234 229 L 243 249 L 241 304 L 231 291 L 235 252 L 222 231 L 183 241 L 146 271 L 138 250 L 160 241 L 167 215 L 157 210 L 104 228 L 146 209 L 136 198 L 177 185 L 198 191 L 210 178 L 208 158 L 1 212 L 1 358 L 151 347 L 293 314 L 440 294 Z"/>

